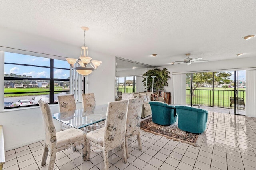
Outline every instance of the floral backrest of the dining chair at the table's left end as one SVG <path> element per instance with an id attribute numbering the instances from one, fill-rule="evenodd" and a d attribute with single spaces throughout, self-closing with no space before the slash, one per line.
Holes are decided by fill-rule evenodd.
<path id="1" fill-rule="evenodd" d="M 47 146 L 50 146 L 56 143 L 56 130 L 52 121 L 52 112 L 48 103 L 39 100 L 38 104 L 44 121 L 45 143 Z"/>

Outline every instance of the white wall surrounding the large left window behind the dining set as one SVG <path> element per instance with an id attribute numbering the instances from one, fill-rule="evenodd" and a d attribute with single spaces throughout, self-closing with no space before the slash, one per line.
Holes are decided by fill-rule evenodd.
<path id="1" fill-rule="evenodd" d="M 36 55 L 40 57 L 51 57 L 54 59 L 63 59 L 63 57 L 78 58 L 78 56 L 80 56 L 79 46 L 76 47 L 60 43 L 52 41 L 51 39 L 46 39 L 45 37 L 20 33 L 3 27 L 0 27 L 0 37 L 0 46 L 3 46 L 0 47 L 0 51 Z M 37 53 L 31 53 L 28 51 L 34 51 Z M 102 64 L 97 70 L 94 70 L 94 72 L 88 76 L 88 92 L 95 93 L 96 105 L 114 101 L 115 56 L 111 57 L 106 54 L 96 53 L 94 51 L 90 51 L 90 49 L 89 52 L 90 57 L 95 60 L 101 60 Z M 0 55 L 0 57 L 0 65 L 3 65 L 3 55 Z M 0 69 L 0 80 L 2 80 L 2 82 L 4 80 L 4 70 L 2 67 Z M 3 86 L 3 83 L 0 84 L 0 101 L 3 101 L 4 98 Z M 50 106 L 53 113 L 58 112 L 58 105 L 54 104 Z M 77 108 L 81 107 L 82 104 L 78 103 Z M 60 123 L 56 120 L 54 120 L 54 122 L 56 123 L 56 130 L 60 130 Z M 3 125 L 4 129 L 4 144 L 6 151 L 44 139 L 42 116 L 38 106 L 0 111 L 0 125 Z"/>

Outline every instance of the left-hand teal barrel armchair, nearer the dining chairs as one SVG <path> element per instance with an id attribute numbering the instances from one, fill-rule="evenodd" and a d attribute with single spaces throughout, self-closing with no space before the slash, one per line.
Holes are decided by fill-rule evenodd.
<path id="1" fill-rule="evenodd" d="M 176 122 L 174 106 L 161 103 L 149 102 L 152 111 L 152 121 L 158 125 L 171 125 Z"/>

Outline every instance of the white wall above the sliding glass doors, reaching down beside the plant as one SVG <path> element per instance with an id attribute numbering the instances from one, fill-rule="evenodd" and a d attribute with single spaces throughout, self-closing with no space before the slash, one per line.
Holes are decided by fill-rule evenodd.
<path id="1" fill-rule="evenodd" d="M 238 58 L 232 60 L 222 60 L 222 61 L 211 61 L 206 63 L 192 63 L 191 65 L 177 64 L 172 66 L 159 67 L 167 68 L 171 72 L 171 79 L 168 80 L 168 87 L 164 87 L 164 91 L 171 92 L 173 94 L 173 79 L 172 74 L 175 72 L 196 72 L 196 71 L 215 71 L 215 70 L 246 70 L 256 68 L 256 57 L 248 58 Z M 173 98 L 172 98 L 173 101 Z"/>

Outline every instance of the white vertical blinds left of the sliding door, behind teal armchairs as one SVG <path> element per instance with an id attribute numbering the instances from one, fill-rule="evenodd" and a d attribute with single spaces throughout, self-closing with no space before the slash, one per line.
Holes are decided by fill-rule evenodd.
<path id="1" fill-rule="evenodd" d="M 186 104 L 186 74 L 173 75 L 172 104 Z"/>

